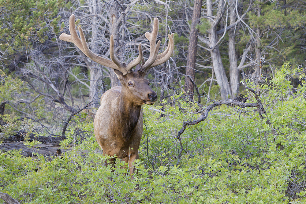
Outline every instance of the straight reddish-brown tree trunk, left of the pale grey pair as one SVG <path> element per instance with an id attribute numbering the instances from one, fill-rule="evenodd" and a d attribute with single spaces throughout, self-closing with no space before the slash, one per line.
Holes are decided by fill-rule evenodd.
<path id="1" fill-rule="evenodd" d="M 189 99 L 193 100 L 194 94 L 194 76 L 196 68 L 196 51 L 198 44 L 198 29 L 196 25 L 199 23 L 201 16 L 202 0 L 195 0 L 193 5 L 192 22 L 189 35 L 189 45 L 186 64 L 185 91 Z"/>

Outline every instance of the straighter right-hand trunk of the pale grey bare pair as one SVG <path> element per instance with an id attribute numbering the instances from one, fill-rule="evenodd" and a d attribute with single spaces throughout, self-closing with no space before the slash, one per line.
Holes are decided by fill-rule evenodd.
<path id="1" fill-rule="evenodd" d="M 230 0 L 230 25 L 236 21 L 235 1 Z M 237 68 L 237 55 L 235 49 L 235 27 L 229 30 L 229 60 L 230 60 L 230 88 L 232 96 L 235 97 L 239 92 L 239 72 Z"/>

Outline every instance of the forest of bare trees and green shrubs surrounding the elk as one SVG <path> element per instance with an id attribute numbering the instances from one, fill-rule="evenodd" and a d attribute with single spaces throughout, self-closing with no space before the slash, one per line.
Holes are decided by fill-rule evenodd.
<path id="1" fill-rule="evenodd" d="M 0 191 L 21 203 L 305 203 L 305 2 L 301 0 L 0 0 Z M 161 50 L 147 74 L 137 173 L 103 163 L 93 134 L 110 68 L 61 41 L 76 15 L 90 49 L 137 56 L 159 19 Z M 234 100 L 233 100 L 234 99 Z M 221 100 L 221 101 L 220 101 Z M 35 138 L 37 138 L 35 140 Z M 35 153 L 39 138 L 65 154 Z M 135 188 L 139 184 L 138 188 Z M 99 192 L 97 194 L 97 192 Z"/>

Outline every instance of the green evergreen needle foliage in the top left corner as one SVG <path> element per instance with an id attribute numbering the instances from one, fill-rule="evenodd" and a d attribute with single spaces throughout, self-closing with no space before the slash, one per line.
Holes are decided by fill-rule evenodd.
<path id="1" fill-rule="evenodd" d="M 43 43 L 50 28 L 58 34 L 60 16 L 54 18 L 63 5 L 62 0 L 1 0 L 1 50 L 19 50 L 32 42 Z M 54 18 L 54 19 L 53 19 Z M 53 20 L 52 20 L 53 19 Z"/>

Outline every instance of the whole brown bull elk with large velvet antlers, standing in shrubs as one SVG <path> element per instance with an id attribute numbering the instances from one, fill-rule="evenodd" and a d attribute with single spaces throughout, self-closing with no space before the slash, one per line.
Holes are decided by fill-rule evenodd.
<path id="1" fill-rule="evenodd" d="M 160 54 L 160 41 L 156 44 L 159 20 L 154 19 L 152 33 L 145 36 L 150 42 L 150 55 L 147 61 L 143 58 L 141 44 L 138 46 L 138 57 L 128 64 L 118 60 L 114 55 L 114 36 L 110 36 L 110 60 L 100 57 L 89 50 L 81 27 L 78 27 L 80 38 L 76 32 L 75 16 L 69 20 L 70 35 L 62 33 L 60 39 L 74 43 L 91 60 L 114 69 L 121 82 L 101 96 L 101 105 L 94 119 L 95 138 L 103 150 L 103 155 L 116 155 L 116 158 L 128 163 L 129 171 L 134 172 L 134 161 L 139 159 L 138 149 L 143 133 L 143 112 L 141 106 L 153 105 L 157 94 L 149 87 L 145 78 L 146 72 L 166 62 L 174 50 L 173 33 L 168 35 L 169 43 Z M 135 68 L 135 71 L 132 69 Z M 112 159 L 110 162 L 114 162 Z M 107 165 L 108 163 L 106 163 Z"/>

